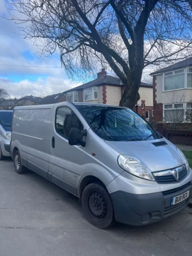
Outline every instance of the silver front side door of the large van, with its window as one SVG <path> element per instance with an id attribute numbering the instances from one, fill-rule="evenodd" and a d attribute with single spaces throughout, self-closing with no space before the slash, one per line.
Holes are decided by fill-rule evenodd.
<path id="1" fill-rule="evenodd" d="M 86 147 L 68 144 L 69 132 L 73 127 L 83 130 L 76 114 L 68 106 L 56 108 L 49 171 L 55 184 L 77 194 L 78 182 L 84 174 Z"/>

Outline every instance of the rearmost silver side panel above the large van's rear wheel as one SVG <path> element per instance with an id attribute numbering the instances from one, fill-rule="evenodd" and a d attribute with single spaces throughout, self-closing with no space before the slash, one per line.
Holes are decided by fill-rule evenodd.
<path id="1" fill-rule="evenodd" d="M 22 164 L 26 166 L 27 160 L 27 145 L 28 145 L 28 118 L 29 109 L 16 109 L 14 110 L 12 120 L 12 141 L 11 151 L 15 147 L 19 149 L 20 156 L 22 158 Z"/>

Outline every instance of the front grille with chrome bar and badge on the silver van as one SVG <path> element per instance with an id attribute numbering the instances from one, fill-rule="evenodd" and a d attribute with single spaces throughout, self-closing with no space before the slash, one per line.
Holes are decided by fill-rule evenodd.
<path id="1" fill-rule="evenodd" d="M 181 182 L 182 180 L 184 180 L 184 178 L 186 178 L 187 176 L 186 166 L 184 165 L 175 169 L 178 169 L 178 180 L 176 180 L 176 178 L 171 174 L 170 171 L 174 170 L 172 169 L 170 171 L 166 170 L 162 172 L 154 172 L 156 182 L 159 184 L 171 184 L 171 183 Z M 157 173 L 160 174 L 160 176 L 156 176 Z M 163 175 L 163 173 L 166 173 L 166 175 Z"/>

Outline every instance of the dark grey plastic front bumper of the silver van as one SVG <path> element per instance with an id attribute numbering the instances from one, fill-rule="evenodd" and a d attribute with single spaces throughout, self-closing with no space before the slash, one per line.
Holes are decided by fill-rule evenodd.
<path id="1" fill-rule="evenodd" d="M 189 198 L 170 206 L 171 198 L 190 190 Z M 192 197 L 192 182 L 180 188 L 152 194 L 131 194 L 117 191 L 110 194 L 114 206 L 115 219 L 132 226 L 142 226 L 157 222 L 182 210 Z"/>

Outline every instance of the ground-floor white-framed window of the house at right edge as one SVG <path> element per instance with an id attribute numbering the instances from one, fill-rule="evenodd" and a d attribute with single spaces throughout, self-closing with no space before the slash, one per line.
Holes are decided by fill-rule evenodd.
<path id="1" fill-rule="evenodd" d="M 164 121 L 166 122 L 183 122 L 184 121 L 184 104 L 164 104 Z"/>

